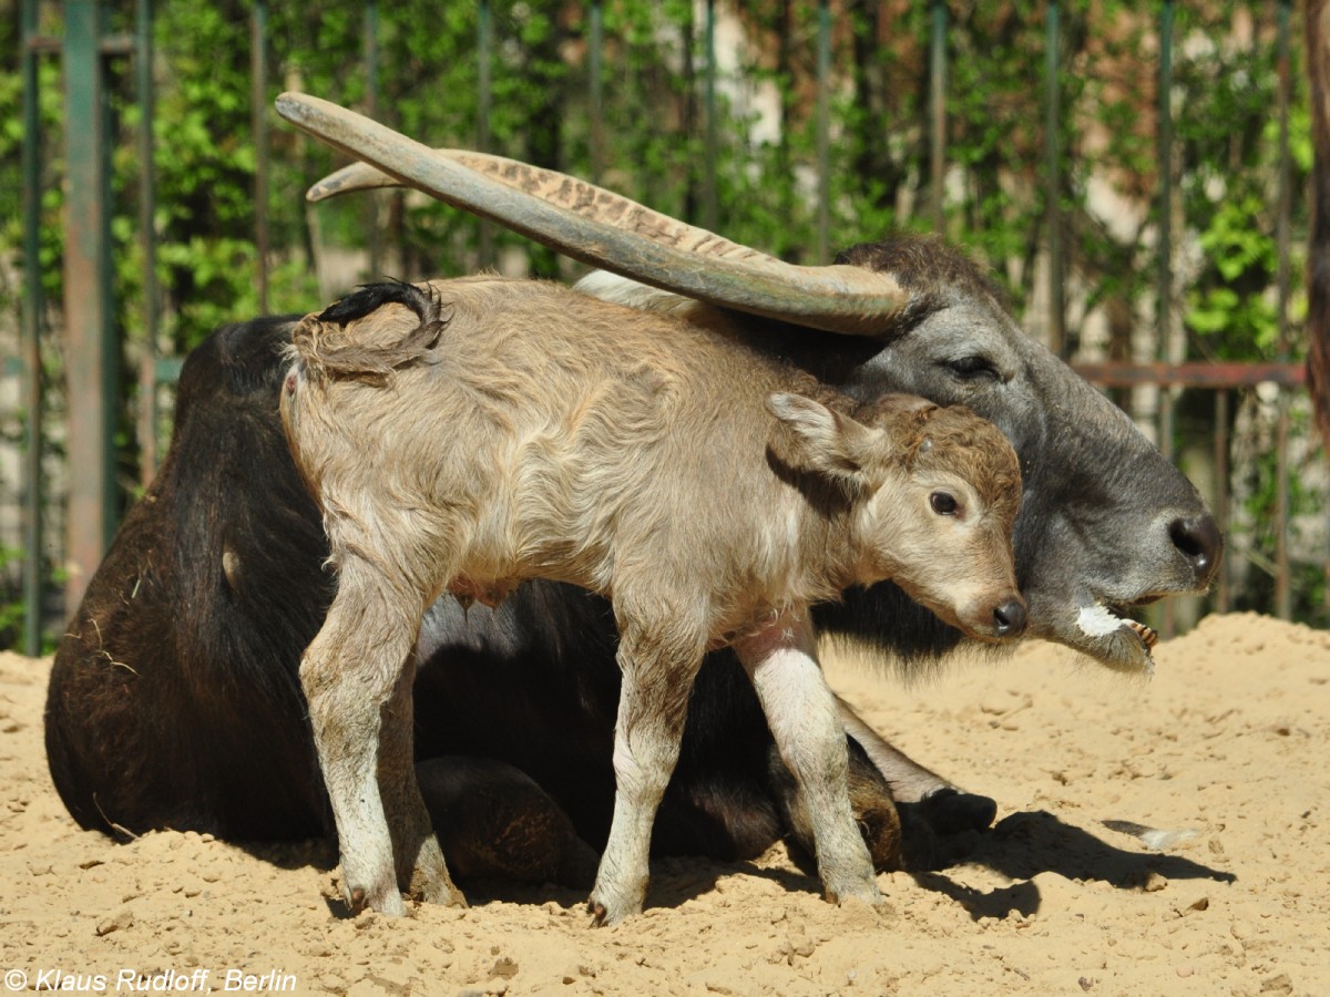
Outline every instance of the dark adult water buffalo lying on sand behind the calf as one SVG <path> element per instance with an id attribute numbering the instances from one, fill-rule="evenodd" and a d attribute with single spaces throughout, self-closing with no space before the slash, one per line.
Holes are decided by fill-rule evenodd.
<path id="1" fill-rule="evenodd" d="M 527 179 L 548 191 L 541 177 L 549 178 L 525 174 L 517 186 Z M 500 194 L 512 201 L 515 190 L 505 183 Z M 604 191 L 583 201 L 581 218 L 592 225 L 597 213 L 645 213 Z M 677 230 L 662 229 L 660 215 L 636 217 L 677 249 Z M 535 229 L 529 219 L 509 223 Z M 544 238 L 576 243 L 600 235 L 573 229 Z M 761 258 L 710 238 L 725 249 L 721 259 Z M 634 253 L 650 255 L 649 247 Z M 608 262 L 668 283 L 657 271 Z M 1119 409 L 1021 335 L 960 253 L 903 238 L 855 247 L 838 263 L 827 269 L 834 283 L 851 269 L 890 275 L 908 303 L 886 316 L 851 318 L 845 331 L 857 335 L 829 335 L 807 327 L 827 324 L 825 316 L 781 322 L 763 302 L 754 310 L 767 318 L 732 316 L 734 335 L 861 400 L 906 391 L 964 403 L 996 423 L 1024 477 L 1016 558 L 1028 631 L 1115 669 L 1148 667 L 1153 634 L 1129 619 L 1132 606 L 1204 589 L 1218 562 L 1221 537 L 1194 488 Z M 705 284 L 708 273 L 725 267 L 706 258 L 689 270 Z M 729 275 L 717 278 L 726 282 Z M 769 283 L 787 283 L 786 275 Z M 689 290 L 697 292 L 696 284 Z M 652 307 L 701 307 L 646 298 Z M 229 326 L 189 358 L 162 471 L 126 518 L 61 643 L 47 707 L 48 755 L 61 798 L 85 827 L 269 839 L 330 828 L 297 678 L 331 593 L 318 517 L 277 416 L 279 351 L 291 324 Z M 815 622 L 907 661 L 936 657 L 959 639 L 891 585 L 819 606 Z M 446 598 L 426 615 L 418 658 L 416 715 L 430 718 L 419 724 L 418 756 L 508 762 L 553 796 L 588 841 L 604 841 L 618 699 L 606 602 L 544 582 L 524 586 L 497 610 L 464 611 Z M 859 770 L 919 804 L 926 824 L 946 831 L 991 820 L 991 800 L 958 792 L 853 715 L 846 722 Z M 787 784 L 771 763 L 751 686 L 728 653 L 716 655 L 690 703 L 653 847 L 718 857 L 759 852 L 791 818 L 801 827 Z"/>

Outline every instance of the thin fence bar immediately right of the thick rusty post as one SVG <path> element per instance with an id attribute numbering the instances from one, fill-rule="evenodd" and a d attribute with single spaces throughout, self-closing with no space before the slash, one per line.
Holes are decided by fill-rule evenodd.
<path id="1" fill-rule="evenodd" d="M 157 173 L 153 165 L 153 3 L 134 11 L 134 96 L 138 102 L 138 230 L 144 251 L 144 356 L 138 371 L 138 476 L 157 473 Z"/>

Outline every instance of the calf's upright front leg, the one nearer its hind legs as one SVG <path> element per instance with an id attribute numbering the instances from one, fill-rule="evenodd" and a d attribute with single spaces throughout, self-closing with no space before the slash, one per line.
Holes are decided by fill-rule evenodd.
<path id="1" fill-rule="evenodd" d="M 701 639 L 672 643 L 673 651 L 638 627 L 620 635 L 624 681 L 614 724 L 614 816 L 588 903 L 600 925 L 641 912 L 646 897 L 652 826 L 678 762 L 704 650 Z"/>

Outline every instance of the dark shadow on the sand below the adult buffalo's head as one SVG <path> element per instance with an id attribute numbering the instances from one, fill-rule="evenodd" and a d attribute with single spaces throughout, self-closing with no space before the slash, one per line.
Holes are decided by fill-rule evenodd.
<path id="1" fill-rule="evenodd" d="M 1033 877 L 1041 872 L 1055 872 L 1069 880 L 1099 880 L 1133 891 L 1144 889 L 1152 873 L 1170 880 L 1237 880 L 1232 872 L 1180 855 L 1116 848 L 1041 810 L 1012 814 L 991 831 L 966 837 L 967 841 L 958 840 L 948 851 L 951 863 L 984 865 L 1016 881 L 986 892 L 956 883 L 943 872 L 912 875 L 919 885 L 944 893 L 964 907 L 976 921 L 1007 917 L 1012 911 L 1025 917 L 1037 912 L 1043 897 Z M 962 856 L 959 852 L 964 845 L 970 851 Z"/>

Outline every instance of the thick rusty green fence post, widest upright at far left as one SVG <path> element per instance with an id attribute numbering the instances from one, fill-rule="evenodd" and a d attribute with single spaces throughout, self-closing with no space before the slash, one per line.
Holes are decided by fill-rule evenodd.
<path id="1" fill-rule="evenodd" d="M 110 157 L 102 4 L 64 4 L 65 322 L 69 397 L 66 606 L 82 598 L 116 524 L 116 396 L 120 348 L 110 304 Z"/>

